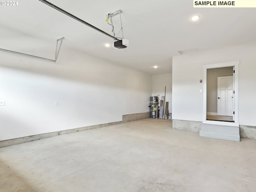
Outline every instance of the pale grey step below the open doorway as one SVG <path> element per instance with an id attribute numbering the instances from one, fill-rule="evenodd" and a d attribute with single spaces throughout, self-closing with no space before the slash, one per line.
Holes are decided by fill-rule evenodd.
<path id="1" fill-rule="evenodd" d="M 199 135 L 215 139 L 240 141 L 239 127 L 202 124 Z"/>

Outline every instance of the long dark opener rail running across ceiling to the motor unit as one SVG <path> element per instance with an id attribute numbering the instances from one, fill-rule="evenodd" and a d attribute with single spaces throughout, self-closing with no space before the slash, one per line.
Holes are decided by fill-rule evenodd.
<path id="1" fill-rule="evenodd" d="M 61 8 L 59 8 L 59 7 L 57 7 L 56 5 L 50 3 L 50 2 L 48 2 L 48 1 L 46 1 L 46 0 L 39 0 L 39 1 L 45 3 L 46 5 L 48 5 L 48 6 L 52 7 L 52 8 L 54 8 L 54 9 L 56 9 L 56 10 L 62 12 L 62 13 L 64 13 L 64 14 L 66 14 L 67 16 L 70 16 L 71 18 L 73 18 L 73 19 L 75 19 L 75 20 L 81 22 L 82 24 L 85 24 L 85 25 L 89 26 L 90 28 L 93 28 L 93 29 L 97 30 L 98 32 L 103 33 L 104 35 L 113 38 L 114 40 L 117 40 L 117 41 L 119 40 L 118 38 L 116 38 L 116 37 L 114 37 L 114 36 L 112 36 L 112 35 L 110 35 L 110 34 L 104 32 L 104 31 L 102 31 L 102 30 L 100 30 L 99 28 L 96 28 L 95 26 L 93 26 L 93 25 L 91 25 L 91 24 L 85 22 L 84 20 L 82 20 L 82 19 L 80 19 L 80 18 L 78 18 L 78 17 L 76 17 L 76 16 L 70 14 L 69 12 L 66 12 L 65 10 L 63 10 L 63 9 L 61 9 Z"/>

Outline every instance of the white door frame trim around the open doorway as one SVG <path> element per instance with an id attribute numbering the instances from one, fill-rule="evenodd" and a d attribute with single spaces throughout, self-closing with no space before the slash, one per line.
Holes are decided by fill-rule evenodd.
<path id="1" fill-rule="evenodd" d="M 214 63 L 214 64 L 206 64 L 203 66 L 204 70 L 204 83 L 203 83 L 203 124 L 214 124 L 214 125 L 224 125 L 224 126 L 235 126 L 239 127 L 238 122 L 238 66 L 240 61 L 230 61 L 230 62 L 222 62 L 222 63 Z M 235 73 L 234 75 L 234 122 L 223 122 L 223 121 L 212 121 L 206 120 L 206 112 L 207 112 L 207 69 L 212 68 L 223 68 L 223 67 L 234 67 Z"/>

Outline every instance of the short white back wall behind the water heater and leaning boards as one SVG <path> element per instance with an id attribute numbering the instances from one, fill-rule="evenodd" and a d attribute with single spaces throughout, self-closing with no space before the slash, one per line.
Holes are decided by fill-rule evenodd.
<path id="1" fill-rule="evenodd" d="M 161 96 L 164 96 L 164 88 L 166 86 L 165 101 L 169 102 L 168 110 L 172 112 L 172 74 L 158 74 L 152 75 L 152 96 L 158 96 L 160 102 Z M 164 104 L 165 107 L 165 104 Z"/>

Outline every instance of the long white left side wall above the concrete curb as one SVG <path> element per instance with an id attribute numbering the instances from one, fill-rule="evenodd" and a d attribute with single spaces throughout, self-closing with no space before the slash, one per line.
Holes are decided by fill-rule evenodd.
<path id="1" fill-rule="evenodd" d="M 0 140 L 122 121 L 152 93 L 151 75 L 64 46 L 57 63 L 0 58 Z"/>

